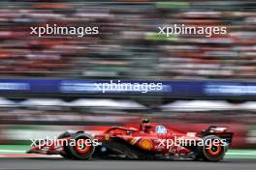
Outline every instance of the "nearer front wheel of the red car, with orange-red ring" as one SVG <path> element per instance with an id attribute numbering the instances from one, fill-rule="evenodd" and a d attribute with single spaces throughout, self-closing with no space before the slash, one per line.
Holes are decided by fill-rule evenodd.
<path id="1" fill-rule="evenodd" d="M 72 135 L 69 143 L 69 151 L 72 156 L 77 159 L 89 159 L 95 151 L 93 138 L 85 133 L 76 133 Z"/>

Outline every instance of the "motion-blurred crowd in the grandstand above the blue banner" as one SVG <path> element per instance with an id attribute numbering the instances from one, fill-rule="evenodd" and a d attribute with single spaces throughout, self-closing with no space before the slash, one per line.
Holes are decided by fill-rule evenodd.
<path id="1" fill-rule="evenodd" d="M 0 76 L 256 78 L 256 3 L 0 2 Z M 226 26 L 227 35 L 159 37 L 158 26 Z M 31 26 L 98 26 L 99 35 L 38 38 Z"/>

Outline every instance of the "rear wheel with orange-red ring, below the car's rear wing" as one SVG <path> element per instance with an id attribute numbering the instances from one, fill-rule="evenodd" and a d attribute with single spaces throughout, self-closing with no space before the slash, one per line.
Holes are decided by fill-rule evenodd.
<path id="1" fill-rule="evenodd" d="M 205 136 L 203 140 L 205 145 L 198 146 L 198 155 L 196 156 L 196 159 L 202 158 L 206 161 L 220 161 L 225 156 L 227 147 L 221 145 L 221 139 L 218 136 L 208 135 Z M 211 141 L 211 144 L 209 141 Z M 218 141 L 219 144 L 214 145 L 213 141 Z"/>

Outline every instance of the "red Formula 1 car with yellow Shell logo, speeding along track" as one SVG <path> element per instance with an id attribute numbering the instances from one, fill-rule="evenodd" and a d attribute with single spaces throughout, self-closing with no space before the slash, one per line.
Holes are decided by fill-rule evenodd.
<path id="1" fill-rule="evenodd" d="M 83 131 L 65 131 L 58 139 L 35 142 L 27 153 L 76 159 L 183 157 L 219 161 L 231 145 L 232 137 L 233 132 L 227 128 L 209 127 L 201 133 L 180 133 L 144 120 L 140 129 L 112 127 L 93 137 Z"/>

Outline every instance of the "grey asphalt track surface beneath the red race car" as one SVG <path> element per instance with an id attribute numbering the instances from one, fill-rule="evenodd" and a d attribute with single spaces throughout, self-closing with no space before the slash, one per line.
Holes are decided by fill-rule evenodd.
<path id="1" fill-rule="evenodd" d="M 1 170 L 255 170 L 256 159 L 221 162 L 191 160 L 68 160 L 61 157 L 1 157 Z"/>

